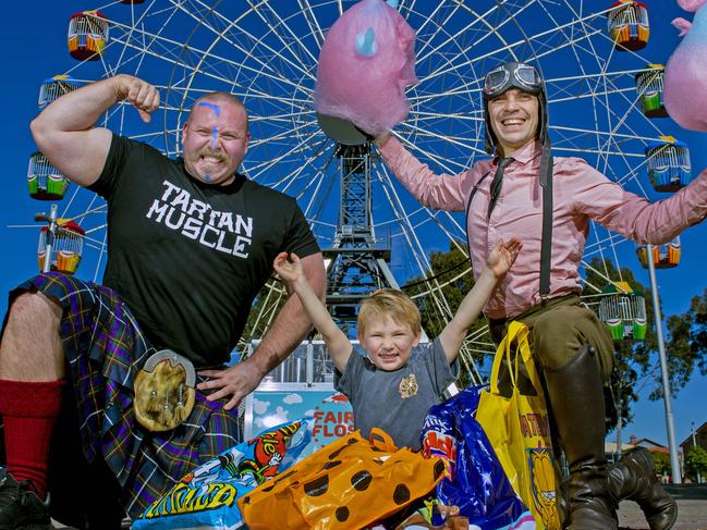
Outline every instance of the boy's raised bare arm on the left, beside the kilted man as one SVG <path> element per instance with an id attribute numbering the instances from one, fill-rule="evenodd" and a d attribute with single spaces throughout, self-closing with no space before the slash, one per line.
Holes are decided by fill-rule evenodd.
<path id="1" fill-rule="evenodd" d="M 272 266 L 282 281 L 285 282 L 288 291 L 294 292 L 300 297 L 302 306 L 307 311 L 314 326 L 324 336 L 324 342 L 337 370 L 343 373 L 352 353 L 351 341 L 337 326 L 327 307 L 312 289 L 307 278 L 304 275 L 300 258 L 295 254 L 290 254 L 288 257 L 288 252 L 280 252 L 275 258 Z"/>

